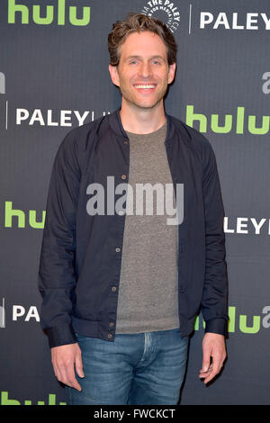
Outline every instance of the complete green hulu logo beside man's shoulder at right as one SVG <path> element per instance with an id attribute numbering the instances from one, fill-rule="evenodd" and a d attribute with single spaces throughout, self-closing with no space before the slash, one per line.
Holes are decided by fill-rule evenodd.
<path id="1" fill-rule="evenodd" d="M 193 105 L 186 106 L 186 124 L 193 128 L 193 121 L 199 122 L 200 132 L 207 132 L 209 119 L 202 113 L 194 113 Z M 223 124 L 220 124 L 223 121 Z M 229 133 L 235 124 L 235 131 L 237 134 L 243 134 L 245 129 L 245 107 L 238 107 L 236 116 L 232 114 L 225 114 L 224 118 L 220 119 L 219 114 L 211 114 L 211 130 L 215 133 Z M 270 116 L 263 116 L 261 125 L 257 124 L 257 117 L 249 115 L 247 117 L 247 130 L 254 135 L 266 135 L 269 132 Z"/>

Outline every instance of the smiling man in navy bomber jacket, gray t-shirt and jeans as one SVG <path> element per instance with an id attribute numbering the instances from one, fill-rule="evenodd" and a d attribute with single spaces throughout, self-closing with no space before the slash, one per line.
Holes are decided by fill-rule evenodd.
<path id="1" fill-rule="evenodd" d="M 226 357 L 219 176 L 210 143 L 165 113 L 177 49 L 166 25 L 129 14 L 108 44 L 121 110 L 71 130 L 58 149 L 40 256 L 41 324 L 70 404 L 176 404 L 200 306 L 204 383 Z M 176 220 L 149 202 L 143 210 L 142 184 L 173 187 Z M 155 192 L 164 206 L 164 191 Z"/>

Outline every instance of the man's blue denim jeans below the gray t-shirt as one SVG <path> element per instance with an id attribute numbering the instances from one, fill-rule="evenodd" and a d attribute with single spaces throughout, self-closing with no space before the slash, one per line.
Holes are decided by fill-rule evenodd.
<path id="1" fill-rule="evenodd" d="M 69 405 L 177 404 L 189 337 L 179 329 L 116 334 L 113 342 L 76 334 L 85 378 L 67 387 Z"/>

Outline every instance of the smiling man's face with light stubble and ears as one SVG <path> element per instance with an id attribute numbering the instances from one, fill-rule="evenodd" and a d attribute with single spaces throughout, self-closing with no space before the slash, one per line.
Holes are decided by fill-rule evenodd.
<path id="1" fill-rule="evenodd" d="M 175 77 L 175 64 L 167 63 L 166 45 L 150 31 L 133 32 L 120 48 L 118 67 L 109 66 L 122 102 L 139 109 L 163 104 L 167 85 Z"/>

